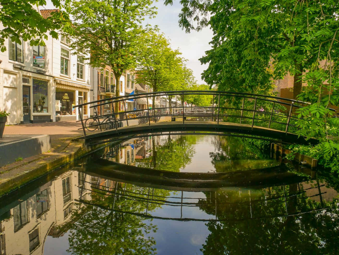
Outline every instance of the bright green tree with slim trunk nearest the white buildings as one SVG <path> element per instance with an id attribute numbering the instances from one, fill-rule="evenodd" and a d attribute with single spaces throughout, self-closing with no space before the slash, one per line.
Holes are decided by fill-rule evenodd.
<path id="1" fill-rule="evenodd" d="M 113 70 L 116 96 L 120 92 L 120 77 L 124 70 L 136 67 L 136 55 L 143 41 L 140 39 L 149 27 L 141 22 L 156 14 L 151 0 L 80 0 L 72 1 L 75 42 L 72 48 L 90 54 L 94 67 Z M 118 112 L 118 103 L 115 105 Z"/>

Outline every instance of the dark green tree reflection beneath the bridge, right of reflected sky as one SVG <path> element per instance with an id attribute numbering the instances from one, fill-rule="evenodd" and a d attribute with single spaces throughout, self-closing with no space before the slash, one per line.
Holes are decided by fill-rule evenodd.
<path id="1" fill-rule="evenodd" d="M 264 168 L 277 164 L 267 160 L 268 155 L 246 141 L 233 136 L 214 136 L 212 143 L 216 151 L 210 152 L 210 157 L 217 172 Z"/>

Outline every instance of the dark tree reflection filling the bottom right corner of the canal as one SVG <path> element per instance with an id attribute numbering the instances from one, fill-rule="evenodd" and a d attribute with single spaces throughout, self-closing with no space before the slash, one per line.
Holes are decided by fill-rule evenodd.
<path id="1" fill-rule="evenodd" d="M 211 233 L 203 254 L 338 253 L 338 199 L 314 201 L 301 184 L 256 193 L 221 190 L 206 197 L 201 210 L 227 221 L 206 223 Z"/>

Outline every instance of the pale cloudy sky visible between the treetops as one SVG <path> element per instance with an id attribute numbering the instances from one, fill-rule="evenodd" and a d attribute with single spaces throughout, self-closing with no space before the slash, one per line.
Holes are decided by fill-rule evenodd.
<path id="1" fill-rule="evenodd" d="M 209 28 L 204 28 L 200 32 L 192 31 L 186 34 L 179 27 L 179 13 L 181 5 L 179 1 L 175 1 L 173 5 L 165 6 L 163 0 L 155 3 L 158 8 L 156 18 L 147 19 L 145 22 L 151 25 L 158 25 L 160 31 L 170 39 L 172 49 L 179 49 L 182 57 L 187 59 L 186 66 L 192 69 L 194 76 L 199 84 L 204 84 L 201 80 L 201 73 L 207 68 L 207 65 L 201 65 L 198 60 L 205 54 L 206 50 L 211 49 L 208 42 L 212 40 L 213 33 Z M 44 6 L 46 9 L 54 9 L 51 0 L 47 0 Z"/>

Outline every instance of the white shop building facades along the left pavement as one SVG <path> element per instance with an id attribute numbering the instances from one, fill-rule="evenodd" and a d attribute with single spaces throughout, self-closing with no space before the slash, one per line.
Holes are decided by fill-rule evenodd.
<path id="1" fill-rule="evenodd" d="M 7 38 L 5 45 L 0 52 L 0 109 L 11 113 L 6 124 L 78 120 L 73 106 L 89 101 L 89 65 L 85 56 L 72 55 L 67 37 L 48 35 L 45 46 Z"/>

